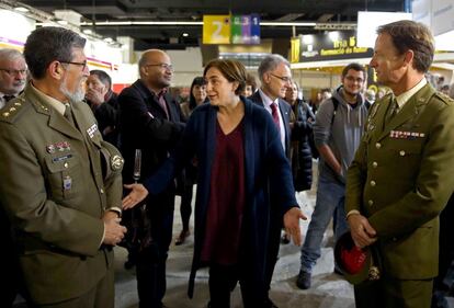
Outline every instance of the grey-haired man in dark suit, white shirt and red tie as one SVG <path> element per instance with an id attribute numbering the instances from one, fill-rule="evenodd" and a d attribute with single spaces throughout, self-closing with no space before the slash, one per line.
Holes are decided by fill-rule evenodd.
<path id="1" fill-rule="evenodd" d="M 284 148 L 286 157 L 290 159 L 290 116 L 292 107 L 283 100 L 287 88 L 292 87 L 290 62 L 281 55 L 270 55 L 265 57 L 259 66 L 259 78 L 261 81 L 261 88 L 249 96 L 249 99 L 270 112 L 281 134 L 282 147 Z M 268 289 L 270 289 L 274 266 L 277 261 L 281 240 L 282 219 L 277 219 L 279 217 L 280 215 L 273 215 L 272 213 L 272 218 L 276 219 L 270 220 L 270 241 L 265 266 Z M 276 307 L 269 297 L 266 298 L 266 304 L 270 307 Z"/>

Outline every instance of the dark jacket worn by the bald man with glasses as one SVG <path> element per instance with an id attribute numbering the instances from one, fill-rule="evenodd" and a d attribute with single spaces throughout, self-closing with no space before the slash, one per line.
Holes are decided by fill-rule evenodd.
<path id="1" fill-rule="evenodd" d="M 118 95 L 121 111 L 121 151 L 125 158 L 123 179 L 133 182 L 134 156 L 141 149 L 141 175 L 150 176 L 174 148 L 184 129 L 179 104 L 166 94 L 170 118 L 158 98 L 140 81 L 125 88 Z"/>

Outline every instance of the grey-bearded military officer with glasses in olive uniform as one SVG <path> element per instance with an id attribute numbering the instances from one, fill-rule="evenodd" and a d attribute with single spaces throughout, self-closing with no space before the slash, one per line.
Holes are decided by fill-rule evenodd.
<path id="1" fill-rule="evenodd" d="M 84 44 L 60 27 L 32 32 L 32 80 L 0 113 L 0 204 L 34 307 L 114 307 L 123 159 L 81 102 Z"/>

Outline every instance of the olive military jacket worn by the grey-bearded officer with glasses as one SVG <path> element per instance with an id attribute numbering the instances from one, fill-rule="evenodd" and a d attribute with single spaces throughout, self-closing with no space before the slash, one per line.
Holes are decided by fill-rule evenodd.
<path id="1" fill-rule="evenodd" d="M 78 297 L 113 271 L 101 218 L 121 207 L 122 158 L 87 104 L 72 111 L 79 130 L 29 84 L 0 112 L 0 204 L 37 304 Z"/>

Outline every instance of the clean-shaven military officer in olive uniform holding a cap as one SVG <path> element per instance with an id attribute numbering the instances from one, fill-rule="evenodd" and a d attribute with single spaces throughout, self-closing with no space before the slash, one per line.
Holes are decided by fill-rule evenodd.
<path id="1" fill-rule="evenodd" d="M 371 66 L 394 94 L 370 111 L 347 179 L 357 247 L 374 244 L 381 280 L 356 285 L 356 307 L 430 307 L 439 214 L 454 189 L 454 102 L 425 81 L 430 30 L 412 21 L 378 27 Z"/>

